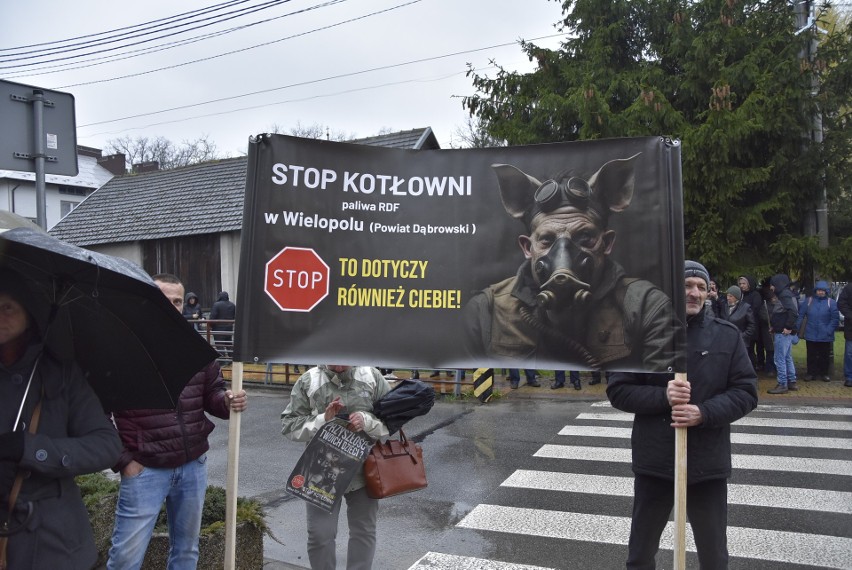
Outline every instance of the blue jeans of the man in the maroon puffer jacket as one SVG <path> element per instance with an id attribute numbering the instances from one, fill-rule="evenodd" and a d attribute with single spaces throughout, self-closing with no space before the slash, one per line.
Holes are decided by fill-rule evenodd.
<path id="1" fill-rule="evenodd" d="M 176 468 L 145 467 L 121 477 L 108 570 L 138 570 L 163 501 L 169 521 L 168 570 L 195 570 L 201 511 L 207 492 L 207 456 Z"/>

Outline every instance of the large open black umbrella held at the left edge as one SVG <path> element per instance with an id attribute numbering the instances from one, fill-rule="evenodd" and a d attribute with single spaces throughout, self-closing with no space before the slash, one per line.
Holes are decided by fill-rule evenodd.
<path id="1" fill-rule="evenodd" d="M 107 411 L 174 408 L 216 351 L 140 267 L 48 234 L 0 234 L 0 267 L 55 307 L 46 345 L 77 361 Z"/>

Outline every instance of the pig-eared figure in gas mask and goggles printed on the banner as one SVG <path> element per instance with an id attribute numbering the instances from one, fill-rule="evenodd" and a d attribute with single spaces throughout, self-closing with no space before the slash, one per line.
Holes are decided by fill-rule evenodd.
<path id="1" fill-rule="evenodd" d="M 649 281 L 627 277 L 610 257 L 616 236 L 609 216 L 633 199 L 637 156 L 611 160 L 588 177 L 544 181 L 492 165 L 503 207 L 528 230 L 518 237 L 525 261 L 465 307 L 471 355 L 525 367 L 534 360 L 548 368 L 671 369 L 671 300 Z"/>

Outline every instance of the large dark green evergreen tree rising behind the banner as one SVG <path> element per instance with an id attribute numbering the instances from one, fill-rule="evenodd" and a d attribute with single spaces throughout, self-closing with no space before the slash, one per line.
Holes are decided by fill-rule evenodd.
<path id="1" fill-rule="evenodd" d="M 852 264 L 850 238 L 820 251 L 803 224 L 822 181 L 832 203 L 850 200 L 848 25 L 810 62 L 822 34 L 797 34 L 786 0 L 567 0 L 563 15 L 558 50 L 522 43 L 534 72 L 469 72 L 477 92 L 465 105 L 492 136 L 678 138 L 688 257 L 723 275 Z"/>

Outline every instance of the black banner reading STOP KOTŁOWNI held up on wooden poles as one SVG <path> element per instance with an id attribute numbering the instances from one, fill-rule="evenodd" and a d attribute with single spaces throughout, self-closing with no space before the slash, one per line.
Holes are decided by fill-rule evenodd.
<path id="1" fill-rule="evenodd" d="M 680 147 L 249 146 L 236 358 L 679 369 Z"/>

